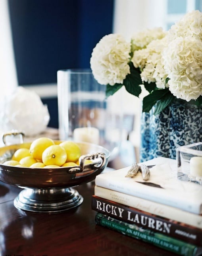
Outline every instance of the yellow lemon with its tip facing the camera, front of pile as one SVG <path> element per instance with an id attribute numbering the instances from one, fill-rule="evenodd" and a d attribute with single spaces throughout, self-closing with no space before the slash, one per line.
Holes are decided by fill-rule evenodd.
<path id="1" fill-rule="evenodd" d="M 42 162 L 46 165 L 62 166 L 67 159 L 67 154 L 63 147 L 52 145 L 46 148 L 42 154 Z"/>

